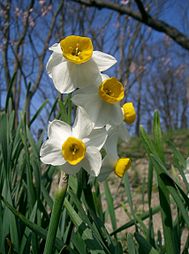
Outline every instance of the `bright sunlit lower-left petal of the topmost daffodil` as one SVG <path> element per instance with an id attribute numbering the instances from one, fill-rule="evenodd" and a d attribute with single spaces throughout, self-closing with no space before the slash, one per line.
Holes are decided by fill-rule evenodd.
<path id="1" fill-rule="evenodd" d="M 60 93 L 71 93 L 76 89 L 68 71 L 68 64 L 68 62 L 62 62 L 52 68 L 51 76 Z"/>

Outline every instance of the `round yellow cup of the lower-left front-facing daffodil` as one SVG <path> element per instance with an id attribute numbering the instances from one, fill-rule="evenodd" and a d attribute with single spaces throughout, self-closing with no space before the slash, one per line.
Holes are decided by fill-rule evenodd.
<path id="1" fill-rule="evenodd" d="M 82 140 L 69 137 L 62 145 L 62 155 L 71 165 L 76 165 L 85 157 L 86 146 Z"/>

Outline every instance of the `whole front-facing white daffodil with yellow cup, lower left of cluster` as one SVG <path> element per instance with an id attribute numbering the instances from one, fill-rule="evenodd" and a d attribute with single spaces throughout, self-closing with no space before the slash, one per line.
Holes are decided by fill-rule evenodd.
<path id="1" fill-rule="evenodd" d="M 105 129 L 93 130 L 93 123 L 78 108 L 73 127 L 60 120 L 49 124 L 48 139 L 40 150 L 41 161 L 62 165 L 67 174 L 76 174 L 83 167 L 91 176 L 98 176 L 102 164 L 100 149 L 104 145 Z"/>

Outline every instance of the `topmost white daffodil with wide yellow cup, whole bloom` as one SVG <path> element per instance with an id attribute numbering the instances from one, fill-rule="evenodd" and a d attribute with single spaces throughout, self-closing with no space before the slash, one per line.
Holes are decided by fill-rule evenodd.
<path id="1" fill-rule="evenodd" d="M 53 51 L 47 63 L 47 72 L 60 93 L 93 85 L 100 72 L 117 61 L 108 54 L 93 51 L 90 38 L 70 35 L 49 48 Z"/>

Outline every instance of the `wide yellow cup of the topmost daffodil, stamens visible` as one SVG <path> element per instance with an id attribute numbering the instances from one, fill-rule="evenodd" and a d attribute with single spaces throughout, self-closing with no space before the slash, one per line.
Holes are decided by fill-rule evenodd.
<path id="1" fill-rule="evenodd" d="M 70 62 L 82 64 L 89 61 L 93 54 L 90 38 L 70 35 L 60 41 L 63 56 Z"/>

